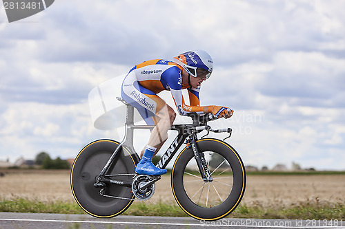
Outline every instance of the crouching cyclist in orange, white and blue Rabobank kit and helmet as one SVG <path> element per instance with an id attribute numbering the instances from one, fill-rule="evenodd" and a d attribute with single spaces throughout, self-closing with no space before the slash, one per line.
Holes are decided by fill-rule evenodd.
<path id="1" fill-rule="evenodd" d="M 121 96 L 136 107 L 147 124 L 155 125 L 135 172 L 145 175 L 163 175 L 166 169 L 152 164 L 152 157 L 168 139 L 168 129 L 175 120 L 175 111 L 157 94 L 170 90 L 181 116 L 189 112 L 213 113 L 218 118 L 230 118 L 233 110 L 221 106 L 199 106 L 201 83 L 210 77 L 213 61 L 203 50 L 189 51 L 172 61 L 155 59 L 136 65 L 128 72 L 121 87 Z M 188 89 L 190 105 L 186 105 L 181 89 Z"/>

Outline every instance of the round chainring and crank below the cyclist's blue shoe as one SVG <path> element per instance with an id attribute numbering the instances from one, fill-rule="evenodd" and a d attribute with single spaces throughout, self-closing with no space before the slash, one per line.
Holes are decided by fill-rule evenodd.
<path id="1" fill-rule="evenodd" d="M 139 200 L 148 200 L 155 193 L 155 183 L 151 184 L 147 188 L 143 187 L 147 182 L 150 182 L 150 176 L 137 175 L 132 182 L 132 193 Z"/>

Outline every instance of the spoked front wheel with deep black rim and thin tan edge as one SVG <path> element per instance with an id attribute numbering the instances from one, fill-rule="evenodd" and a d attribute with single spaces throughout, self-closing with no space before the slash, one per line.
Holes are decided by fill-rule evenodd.
<path id="1" fill-rule="evenodd" d="M 224 141 L 206 138 L 197 140 L 196 144 L 205 155 L 213 182 L 204 182 L 192 148 L 185 148 L 172 167 L 172 193 L 177 204 L 191 217 L 205 221 L 221 219 L 233 212 L 244 196 L 244 164 L 235 149 Z M 215 158 L 213 162 L 212 158 Z"/>

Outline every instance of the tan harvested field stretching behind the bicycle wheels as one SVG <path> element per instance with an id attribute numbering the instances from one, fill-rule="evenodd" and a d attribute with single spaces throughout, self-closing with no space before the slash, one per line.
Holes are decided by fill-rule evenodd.
<path id="1" fill-rule="evenodd" d="M 3 171 L 0 177 L 2 201 L 26 199 L 42 202 L 75 203 L 70 191 L 69 171 Z M 345 175 L 248 175 L 244 199 L 239 211 L 250 215 L 250 209 L 261 210 L 270 216 L 275 210 L 292 208 L 332 208 L 345 217 Z M 170 175 L 156 183 L 155 195 L 144 205 L 176 206 L 170 187 Z M 132 207 L 131 207 L 132 208 Z M 309 212 L 311 210 L 308 210 Z M 239 215 L 241 217 L 241 215 Z"/>

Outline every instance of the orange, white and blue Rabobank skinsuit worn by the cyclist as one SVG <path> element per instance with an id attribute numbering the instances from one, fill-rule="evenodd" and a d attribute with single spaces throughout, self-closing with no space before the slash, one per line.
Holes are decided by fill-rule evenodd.
<path id="1" fill-rule="evenodd" d="M 165 102 L 157 96 L 164 90 L 171 91 L 177 110 L 181 115 L 186 115 L 192 109 L 184 109 L 187 107 L 183 106 L 181 89 L 188 89 L 190 98 L 192 97 L 191 103 L 199 106 L 200 87 L 195 88 L 182 84 L 182 71 L 181 66 L 163 59 L 145 61 L 135 65 L 124 80 L 121 96 L 138 109 L 148 124 L 154 124 L 150 117 L 157 115 L 165 105 Z M 199 111 L 199 109 L 193 109 L 193 111 Z"/>

